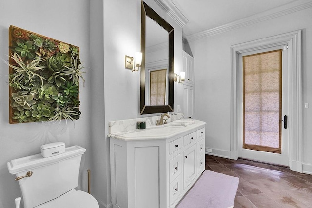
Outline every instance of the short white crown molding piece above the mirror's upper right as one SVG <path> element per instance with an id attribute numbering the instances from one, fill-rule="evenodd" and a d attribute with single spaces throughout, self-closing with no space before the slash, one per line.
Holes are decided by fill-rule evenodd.
<path id="1" fill-rule="evenodd" d="M 158 6 L 160 6 L 162 10 L 164 10 L 169 15 L 169 17 L 174 19 L 180 27 L 183 27 L 189 22 L 189 20 L 186 19 L 186 17 L 180 12 L 180 10 L 171 0 L 154 1 L 158 4 Z"/>

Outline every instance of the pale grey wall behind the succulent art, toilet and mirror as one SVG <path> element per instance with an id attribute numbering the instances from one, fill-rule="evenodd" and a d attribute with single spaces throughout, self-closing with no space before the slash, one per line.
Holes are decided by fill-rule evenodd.
<path id="1" fill-rule="evenodd" d="M 146 3 L 175 28 L 178 73 L 182 70 L 182 28 L 153 0 Z M 87 169 L 91 169 L 91 193 L 101 208 L 111 206 L 108 122 L 149 116 L 139 115 L 139 72 L 124 68 L 124 56 L 140 51 L 141 1 L 0 0 L 0 5 L 2 59 L 7 59 L 8 28 L 12 24 L 79 46 L 80 58 L 88 67 L 85 87 L 80 86 L 79 120 L 66 126 L 64 122 L 59 126 L 8 124 L 8 67 L 0 62 L 0 207 L 13 207 L 14 199 L 20 196 L 18 182 L 8 173 L 6 163 L 39 153 L 40 145 L 55 141 L 87 149 L 80 171 L 80 189 L 87 191 Z M 175 83 L 175 110 L 177 105 L 183 108 L 183 86 Z"/>

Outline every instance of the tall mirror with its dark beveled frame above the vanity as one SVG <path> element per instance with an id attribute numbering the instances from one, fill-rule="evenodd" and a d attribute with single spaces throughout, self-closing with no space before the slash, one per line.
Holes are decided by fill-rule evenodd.
<path id="1" fill-rule="evenodd" d="M 173 112 L 174 28 L 141 2 L 140 114 Z"/>

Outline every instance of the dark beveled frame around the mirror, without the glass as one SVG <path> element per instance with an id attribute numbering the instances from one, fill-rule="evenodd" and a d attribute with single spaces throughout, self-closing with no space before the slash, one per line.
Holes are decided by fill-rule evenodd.
<path id="1" fill-rule="evenodd" d="M 174 111 L 174 28 L 162 19 L 151 7 L 149 7 L 145 2 L 141 1 L 141 52 L 142 56 L 142 67 L 140 72 L 140 114 L 152 114 L 152 113 L 165 113 Z M 169 56 L 168 56 L 168 105 L 145 105 L 145 16 L 150 17 L 156 21 L 161 27 L 168 31 L 169 38 Z M 148 89 L 147 89 L 148 90 Z"/>

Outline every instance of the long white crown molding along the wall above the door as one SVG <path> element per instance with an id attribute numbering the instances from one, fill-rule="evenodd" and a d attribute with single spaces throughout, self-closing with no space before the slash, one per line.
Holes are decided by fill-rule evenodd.
<path id="1" fill-rule="evenodd" d="M 209 30 L 205 30 L 205 31 L 201 31 L 195 34 L 188 35 L 186 36 L 186 39 L 188 42 L 195 41 L 195 40 L 206 38 L 206 37 L 213 36 L 216 34 L 228 32 L 228 31 L 240 28 L 240 27 L 252 25 L 261 21 L 274 19 L 283 15 L 291 14 L 293 12 L 297 12 L 297 11 L 307 9 L 310 7 L 312 7 L 311 0 L 293 1 L 291 3 L 267 10 L 265 12 L 257 13 L 255 15 L 221 25 L 219 27 L 215 27 Z"/>

